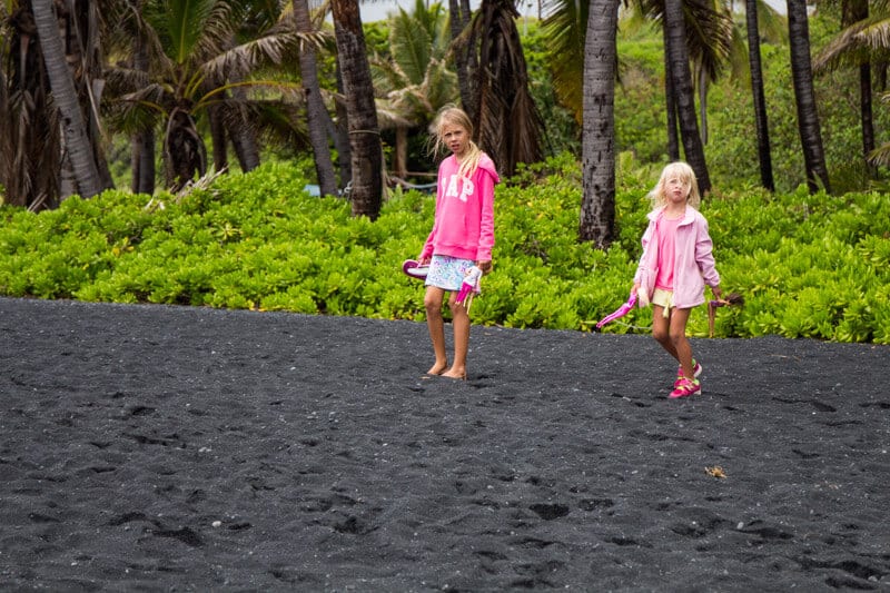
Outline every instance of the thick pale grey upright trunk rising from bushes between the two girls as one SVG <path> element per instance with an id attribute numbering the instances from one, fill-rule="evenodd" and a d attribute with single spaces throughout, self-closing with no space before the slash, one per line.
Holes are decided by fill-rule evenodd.
<path id="1" fill-rule="evenodd" d="M 578 239 L 607 248 L 615 231 L 615 37 L 619 0 L 591 0 L 584 41 L 583 189 Z"/>

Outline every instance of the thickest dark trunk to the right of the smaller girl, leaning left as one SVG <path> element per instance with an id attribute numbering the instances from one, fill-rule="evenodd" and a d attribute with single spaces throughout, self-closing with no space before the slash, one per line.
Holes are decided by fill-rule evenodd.
<path id="1" fill-rule="evenodd" d="M 807 187 L 811 194 L 820 185 L 831 194 L 819 112 L 813 90 L 813 69 L 810 61 L 810 26 L 807 20 L 807 1 L 788 0 L 788 41 L 791 50 L 791 78 L 794 83 L 794 102 L 798 108 L 798 129 L 803 148 Z"/>

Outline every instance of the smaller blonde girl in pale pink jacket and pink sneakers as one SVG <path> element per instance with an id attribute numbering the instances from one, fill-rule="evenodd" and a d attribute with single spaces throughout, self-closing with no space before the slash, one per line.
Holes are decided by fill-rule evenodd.
<path id="1" fill-rule="evenodd" d="M 653 210 L 632 294 L 641 307 L 652 303 L 652 337 L 680 363 L 669 397 L 688 397 L 701 393 L 702 365 L 692 357 L 686 322 L 692 307 L 704 303 L 705 284 L 720 298 L 720 275 L 708 220 L 696 209 L 701 197 L 692 167 L 668 165 L 649 197 Z"/>

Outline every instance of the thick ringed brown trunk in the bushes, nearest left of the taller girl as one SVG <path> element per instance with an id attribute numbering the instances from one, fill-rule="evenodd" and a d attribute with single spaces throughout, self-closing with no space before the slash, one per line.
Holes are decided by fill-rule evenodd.
<path id="1" fill-rule="evenodd" d="M 357 0 L 333 0 L 353 155 L 353 216 L 376 220 L 383 204 L 383 146 Z"/>

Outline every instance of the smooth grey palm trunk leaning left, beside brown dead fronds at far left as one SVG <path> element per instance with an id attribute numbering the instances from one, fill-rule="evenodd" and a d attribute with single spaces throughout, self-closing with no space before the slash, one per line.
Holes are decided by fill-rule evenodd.
<path id="1" fill-rule="evenodd" d="M 58 21 L 52 10 L 52 0 L 32 0 L 34 23 L 40 38 L 43 61 L 56 105 L 61 113 L 62 130 L 71 165 L 77 177 L 78 190 L 85 198 L 96 196 L 103 189 L 99 169 L 87 135 L 83 112 L 80 109 L 75 81 L 65 58 L 65 48 L 59 37 Z"/>

